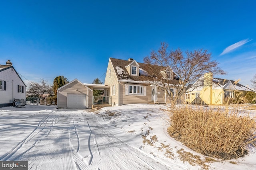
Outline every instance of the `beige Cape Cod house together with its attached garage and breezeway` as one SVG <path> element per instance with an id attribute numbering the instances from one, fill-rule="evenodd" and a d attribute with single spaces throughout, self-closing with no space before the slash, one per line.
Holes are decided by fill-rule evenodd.
<path id="1" fill-rule="evenodd" d="M 165 73 L 160 66 L 150 66 L 160 74 Z M 111 106 L 168 102 L 168 95 L 164 88 L 150 82 L 147 69 L 148 64 L 138 63 L 133 59 L 110 58 L 104 84 L 86 84 L 78 79 L 72 80 L 57 89 L 57 106 L 58 108 L 84 109 L 94 107 L 94 104 L 99 104 L 99 101 L 101 104 L 105 102 Z M 172 79 L 174 75 L 172 70 L 166 69 L 170 70 L 168 78 Z M 174 85 L 170 84 L 170 87 L 170 91 L 175 95 Z M 104 91 L 102 99 L 98 102 L 93 96 L 93 90 Z"/>

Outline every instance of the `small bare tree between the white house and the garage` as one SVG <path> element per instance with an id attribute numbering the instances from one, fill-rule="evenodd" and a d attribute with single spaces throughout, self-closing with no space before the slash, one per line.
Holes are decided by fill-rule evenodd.
<path id="1" fill-rule="evenodd" d="M 29 84 L 27 94 L 30 96 L 36 96 L 42 98 L 44 94 L 53 94 L 52 85 L 47 84 L 47 80 L 43 78 L 40 80 L 40 83 L 31 82 Z"/>

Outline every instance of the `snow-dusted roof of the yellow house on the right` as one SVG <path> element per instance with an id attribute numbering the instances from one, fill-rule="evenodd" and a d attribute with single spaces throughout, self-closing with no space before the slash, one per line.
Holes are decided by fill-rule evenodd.
<path id="1" fill-rule="evenodd" d="M 212 78 L 212 82 L 226 90 L 252 91 L 250 88 L 248 88 L 240 83 L 236 83 L 234 80 L 227 80 L 227 79 L 222 79 L 222 78 Z"/>

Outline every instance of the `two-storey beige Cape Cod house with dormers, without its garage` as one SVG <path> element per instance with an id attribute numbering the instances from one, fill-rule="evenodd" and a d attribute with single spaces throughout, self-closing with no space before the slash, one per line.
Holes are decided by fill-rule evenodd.
<path id="1" fill-rule="evenodd" d="M 134 59 L 109 59 L 104 84 L 110 87 L 107 95 L 111 96 L 113 106 L 167 102 L 168 96 L 164 88 L 150 83 L 150 76 L 145 76 L 148 69 L 147 65 L 138 63 Z M 153 67 L 155 71 L 163 71 L 160 66 Z M 170 76 L 173 75 L 171 72 Z M 148 77 L 148 79 L 145 79 L 145 77 Z M 174 86 L 170 90 L 175 95 L 176 89 Z"/>

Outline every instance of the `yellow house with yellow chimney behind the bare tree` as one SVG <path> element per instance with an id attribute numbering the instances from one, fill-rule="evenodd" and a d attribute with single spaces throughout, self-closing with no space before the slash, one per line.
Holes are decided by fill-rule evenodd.
<path id="1" fill-rule="evenodd" d="M 212 72 L 204 74 L 186 91 L 186 102 L 191 104 L 226 104 L 241 99 L 252 91 L 233 80 L 213 78 Z"/>

